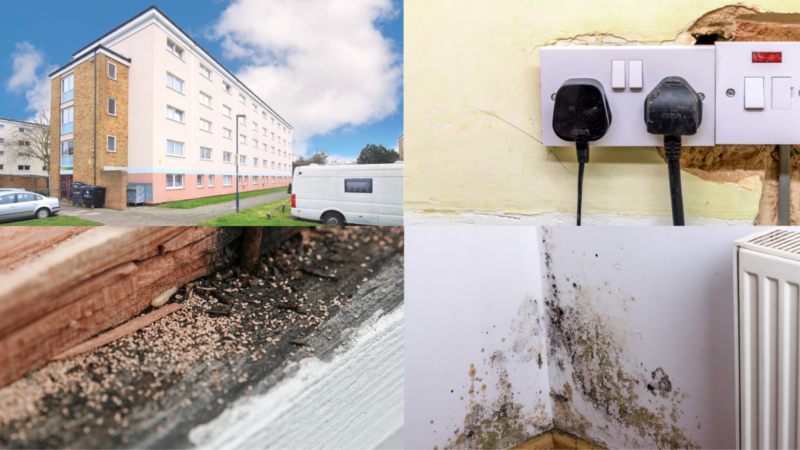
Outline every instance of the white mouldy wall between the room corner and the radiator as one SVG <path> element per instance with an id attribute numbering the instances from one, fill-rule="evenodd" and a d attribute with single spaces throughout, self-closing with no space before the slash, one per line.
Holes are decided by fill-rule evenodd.
<path id="1" fill-rule="evenodd" d="M 560 425 L 609 448 L 735 447 L 733 241 L 752 232 L 543 230 L 547 308 L 563 312 L 549 329 L 550 384 L 572 390 Z M 649 392 L 664 374 L 669 392 Z"/>

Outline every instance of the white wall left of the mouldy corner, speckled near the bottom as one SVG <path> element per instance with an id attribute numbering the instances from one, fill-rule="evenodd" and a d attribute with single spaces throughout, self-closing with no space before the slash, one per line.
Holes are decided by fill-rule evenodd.
<path id="1" fill-rule="evenodd" d="M 505 448 L 549 428 L 537 235 L 406 228 L 406 448 Z M 471 425 L 466 415 L 481 408 Z"/>

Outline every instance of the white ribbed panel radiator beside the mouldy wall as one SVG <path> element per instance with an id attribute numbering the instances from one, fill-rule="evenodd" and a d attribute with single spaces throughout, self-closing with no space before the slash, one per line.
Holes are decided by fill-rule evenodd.
<path id="1" fill-rule="evenodd" d="M 735 243 L 737 446 L 798 448 L 800 232 Z"/>

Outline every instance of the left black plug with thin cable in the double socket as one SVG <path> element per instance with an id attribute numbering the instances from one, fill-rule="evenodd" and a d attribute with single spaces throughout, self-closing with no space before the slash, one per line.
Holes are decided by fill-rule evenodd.
<path id="1" fill-rule="evenodd" d="M 553 131 L 574 142 L 578 152 L 578 226 L 583 200 L 583 165 L 589 162 L 589 142 L 606 135 L 611 108 L 603 85 L 591 78 L 572 78 L 558 88 L 553 107 Z"/>

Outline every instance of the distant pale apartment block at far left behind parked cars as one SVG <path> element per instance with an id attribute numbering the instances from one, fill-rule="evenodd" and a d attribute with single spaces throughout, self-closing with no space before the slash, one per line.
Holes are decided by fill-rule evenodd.
<path id="1" fill-rule="evenodd" d="M 42 154 L 36 142 L 42 136 L 37 132 L 39 127 L 0 117 L 0 176 L 48 176 L 42 160 L 36 157 Z"/>

